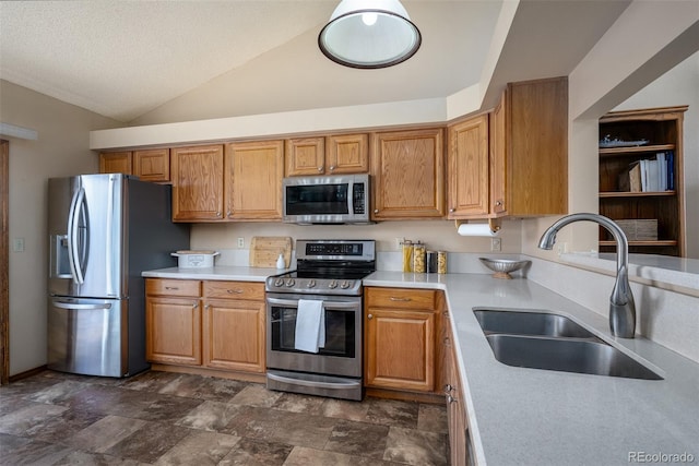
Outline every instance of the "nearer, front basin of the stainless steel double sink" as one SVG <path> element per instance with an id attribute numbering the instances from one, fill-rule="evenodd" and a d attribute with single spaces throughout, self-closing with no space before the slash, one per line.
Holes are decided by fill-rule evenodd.
<path id="1" fill-rule="evenodd" d="M 663 379 L 604 343 L 506 334 L 490 334 L 487 339 L 495 358 L 508 366 L 631 379 Z"/>

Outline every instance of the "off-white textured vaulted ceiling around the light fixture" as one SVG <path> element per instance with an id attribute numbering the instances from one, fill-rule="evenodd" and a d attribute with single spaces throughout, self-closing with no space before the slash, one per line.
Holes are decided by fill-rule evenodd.
<path id="1" fill-rule="evenodd" d="M 447 97 L 482 80 L 502 0 L 403 1 L 423 45 L 386 70 L 348 69 L 320 52 L 318 33 L 336 4 L 1 1 L 0 79 L 132 124 Z M 568 74 L 627 4 L 522 1 L 526 24 L 514 24 L 503 47 L 512 52 L 497 60 L 508 72 L 494 77 Z M 530 43 L 550 51 L 530 48 L 522 60 L 516 50 Z"/>

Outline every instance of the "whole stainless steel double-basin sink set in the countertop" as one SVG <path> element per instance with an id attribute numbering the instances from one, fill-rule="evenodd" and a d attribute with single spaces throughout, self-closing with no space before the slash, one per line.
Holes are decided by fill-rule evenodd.
<path id="1" fill-rule="evenodd" d="M 565 315 L 474 309 L 495 358 L 507 366 L 662 380 L 652 370 Z"/>

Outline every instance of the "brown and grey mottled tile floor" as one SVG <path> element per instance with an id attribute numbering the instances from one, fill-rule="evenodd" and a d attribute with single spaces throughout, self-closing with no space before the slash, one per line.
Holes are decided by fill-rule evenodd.
<path id="1" fill-rule="evenodd" d="M 150 371 L 0 386 L 1 465 L 447 465 L 446 408 Z"/>

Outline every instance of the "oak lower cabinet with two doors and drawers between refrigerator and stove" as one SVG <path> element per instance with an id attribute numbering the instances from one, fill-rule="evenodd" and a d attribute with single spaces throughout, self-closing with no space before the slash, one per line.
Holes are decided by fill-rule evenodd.
<path id="1" fill-rule="evenodd" d="M 146 278 L 151 362 L 265 371 L 264 284 Z"/>

